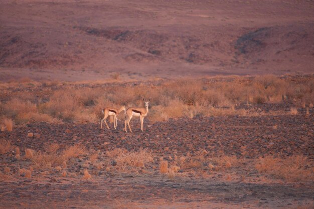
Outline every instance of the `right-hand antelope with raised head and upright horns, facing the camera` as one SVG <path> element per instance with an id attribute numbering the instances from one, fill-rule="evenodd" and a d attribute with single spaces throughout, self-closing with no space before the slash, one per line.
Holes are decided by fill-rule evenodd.
<path id="1" fill-rule="evenodd" d="M 128 125 L 128 128 L 130 129 L 130 132 L 132 132 L 132 129 L 130 127 L 130 120 L 132 119 L 133 116 L 139 117 L 140 119 L 140 130 L 143 131 L 143 122 L 144 122 L 144 117 L 148 113 L 148 104 L 151 100 L 151 98 L 148 99 L 148 101 L 145 101 L 144 98 L 142 98 L 144 103 L 145 103 L 145 108 L 143 107 L 129 107 L 127 110 L 125 110 L 125 116 L 127 118 L 124 120 L 124 127 L 125 127 L 125 132 L 127 132 L 126 129 L 126 123 Z"/>

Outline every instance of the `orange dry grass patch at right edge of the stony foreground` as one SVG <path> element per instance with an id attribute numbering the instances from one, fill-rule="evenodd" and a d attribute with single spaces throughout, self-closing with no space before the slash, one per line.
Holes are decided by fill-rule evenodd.
<path id="1" fill-rule="evenodd" d="M 286 181 L 314 180 L 312 161 L 302 155 L 293 155 L 286 159 L 272 156 L 260 157 L 255 168 L 269 177 Z"/>

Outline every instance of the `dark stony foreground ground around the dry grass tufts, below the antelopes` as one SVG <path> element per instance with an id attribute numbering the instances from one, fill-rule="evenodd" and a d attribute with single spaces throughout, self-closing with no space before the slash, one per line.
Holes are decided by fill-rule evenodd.
<path id="1" fill-rule="evenodd" d="M 153 162 L 134 172 L 99 169 L 82 179 L 80 162 L 68 163 L 68 172 L 35 169 L 32 178 L 23 174 L 0 183 L 0 208 L 311 208 L 312 181 L 286 182 L 260 175 L 247 164 L 241 170 L 209 171 L 201 168 L 179 170 L 174 178 L 159 171 L 159 158 L 170 163 L 174 156 L 195 156 L 205 149 L 207 156 L 237 156 L 254 159 L 274 155 L 301 154 L 314 157 L 314 118 L 304 114 L 258 117 L 201 117 L 170 119 L 167 122 L 131 121 L 133 133 L 125 133 L 119 120 L 116 130 L 100 129 L 99 124 L 35 123 L 0 132 L 21 148 L 45 150 L 48 144 L 82 144 L 87 150 L 105 153 L 114 148 L 128 151 L 147 148 Z M 109 124 L 112 126 L 112 124 Z M 276 125 L 276 127 L 274 127 Z M 27 133 L 36 133 L 28 137 Z M 29 165 L 11 153 L 1 155 L 1 169 L 12 172 Z M 113 164 L 114 167 L 114 164 Z M 44 174 L 42 174 L 44 173 Z"/>

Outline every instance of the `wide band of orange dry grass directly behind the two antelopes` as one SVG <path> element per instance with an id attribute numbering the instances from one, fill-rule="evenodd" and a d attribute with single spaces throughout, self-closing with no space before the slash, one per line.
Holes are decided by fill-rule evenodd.
<path id="1" fill-rule="evenodd" d="M 162 81 L 161 85 L 115 86 L 101 88 L 97 83 L 73 89 L 70 83 L 59 86 L 47 99 L 34 99 L 31 95 L 17 94 L 0 103 L 0 118 L 9 118 L 17 124 L 26 122 L 98 122 L 104 106 L 140 106 L 142 96 L 150 96 L 152 102 L 147 117 L 152 121 L 169 118 L 204 116 L 257 116 L 282 115 L 283 110 L 262 111 L 255 108 L 263 103 L 293 101 L 301 106 L 314 97 L 314 77 L 275 76 L 222 77 L 208 79 L 178 79 Z M 148 86 L 149 85 L 149 86 Z M 77 86 L 80 86 L 77 84 Z M 90 91 L 93 87 L 93 91 Z M 104 96 L 106 95 L 106 96 Z M 44 101 L 44 102 L 43 102 Z M 242 104 L 242 105 L 241 105 Z M 244 105 L 247 108 L 244 108 Z M 295 114 L 292 107 L 290 114 Z M 122 116 L 121 116 L 122 117 Z M 9 129 L 8 129 L 9 130 Z"/>

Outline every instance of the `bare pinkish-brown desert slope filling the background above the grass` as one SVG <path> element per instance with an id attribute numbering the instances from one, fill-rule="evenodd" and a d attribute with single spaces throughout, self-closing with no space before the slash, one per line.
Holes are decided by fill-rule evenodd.
<path id="1" fill-rule="evenodd" d="M 2 1 L 1 80 L 310 73 L 312 11 L 311 1 Z"/>

